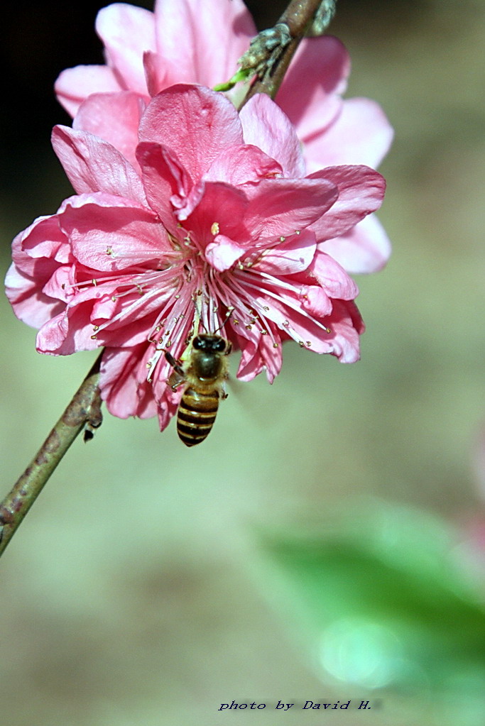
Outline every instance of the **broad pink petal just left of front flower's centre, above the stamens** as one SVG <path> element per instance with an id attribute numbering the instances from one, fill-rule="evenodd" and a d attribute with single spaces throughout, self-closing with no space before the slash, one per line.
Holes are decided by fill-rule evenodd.
<path id="1" fill-rule="evenodd" d="M 70 197 L 59 212 L 73 255 L 93 270 L 156 264 L 171 250 L 166 232 L 152 211 L 136 202 L 99 192 Z"/>

